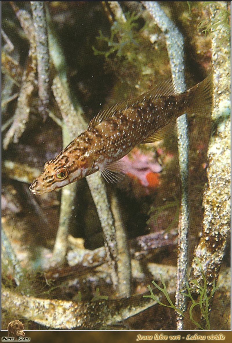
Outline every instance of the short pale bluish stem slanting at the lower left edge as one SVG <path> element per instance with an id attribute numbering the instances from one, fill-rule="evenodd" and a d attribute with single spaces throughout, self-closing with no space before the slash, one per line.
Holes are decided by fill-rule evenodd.
<path id="1" fill-rule="evenodd" d="M 21 264 L 20 264 L 17 256 L 15 255 L 15 252 L 14 252 L 14 250 L 10 244 L 10 241 L 9 241 L 7 235 L 5 234 L 3 227 L 1 228 L 1 239 L 2 239 L 2 246 L 3 246 L 2 253 L 4 256 L 7 256 L 10 263 L 12 263 L 13 268 L 14 268 L 13 278 L 14 278 L 16 285 L 19 285 L 20 280 L 23 277 L 22 267 L 21 267 Z M 10 267 L 10 265 L 9 265 L 9 267 Z"/>

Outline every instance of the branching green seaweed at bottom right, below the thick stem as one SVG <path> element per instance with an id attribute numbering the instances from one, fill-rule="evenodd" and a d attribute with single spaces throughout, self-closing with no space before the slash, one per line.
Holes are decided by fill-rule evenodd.
<path id="1" fill-rule="evenodd" d="M 203 269 L 202 269 L 202 266 L 200 264 L 200 261 L 198 260 L 198 258 L 196 258 L 196 261 L 197 261 L 197 264 L 200 268 L 200 271 L 201 271 L 201 275 L 202 275 L 202 279 L 204 280 L 204 285 L 201 286 L 197 280 L 190 280 L 189 283 L 193 284 L 195 286 L 194 288 L 194 292 L 193 292 L 193 288 L 191 288 L 189 286 L 189 283 L 186 282 L 186 288 L 183 289 L 181 291 L 181 293 L 188 297 L 190 299 L 190 301 L 192 302 L 192 305 L 189 307 L 189 313 L 188 313 L 188 316 L 186 315 L 186 312 L 183 312 L 181 311 L 180 309 L 178 309 L 172 302 L 169 294 L 167 293 L 167 289 L 166 289 L 166 285 L 165 285 L 165 282 L 162 278 L 162 275 L 160 274 L 160 277 L 161 277 L 161 282 L 163 284 L 163 288 L 160 287 L 158 284 L 156 284 L 154 281 L 152 281 L 152 284 L 157 288 L 159 289 L 159 291 L 161 291 L 164 296 L 166 297 L 169 305 L 166 305 L 164 303 L 162 303 L 157 296 L 154 295 L 152 289 L 151 289 L 151 286 L 148 285 L 148 289 L 149 289 L 149 292 L 150 292 L 150 295 L 143 295 L 143 298 L 151 298 L 153 300 L 155 300 L 159 305 L 161 306 L 165 306 L 165 307 L 170 307 L 172 308 L 174 311 L 176 311 L 179 315 L 183 316 L 183 318 L 186 318 L 188 320 L 190 320 L 194 325 L 196 325 L 196 327 L 198 329 L 201 329 L 201 330 L 210 330 L 210 323 L 209 323 L 209 303 L 210 303 L 210 299 L 213 297 L 217 287 L 215 286 L 215 282 L 213 283 L 213 289 L 212 291 L 210 292 L 210 294 L 208 294 L 207 292 L 207 283 L 206 283 L 206 277 L 204 275 L 204 272 L 203 272 Z M 187 292 L 187 293 L 186 293 Z M 198 297 L 198 300 L 196 301 L 193 297 L 193 293 L 198 293 L 199 294 L 199 297 Z M 201 312 L 201 317 L 202 319 L 204 319 L 206 325 L 205 325 L 205 328 L 201 326 L 200 323 L 198 323 L 194 318 L 193 318 L 193 309 L 195 306 L 199 306 L 200 308 L 200 312 Z"/>

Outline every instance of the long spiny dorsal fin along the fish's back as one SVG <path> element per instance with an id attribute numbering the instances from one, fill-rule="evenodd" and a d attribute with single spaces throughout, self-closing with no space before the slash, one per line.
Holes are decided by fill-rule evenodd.
<path id="1" fill-rule="evenodd" d="M 175 85 L 176 86 L 176 85 Z M 149 90 L 146 93 L 139 95 L 138 97 L 125 100 L 124 102 L 113 105 L 109 108 L 106 108 L 100 111 L 93 119 L 90 121 L 88 130 L 92 129 L 94 126 L 100 124 L 102 121 L 111 118 L 118 111 L 124 111 L 130 106 L 135 106 L 138 103 L 143 103 L 146 100 L 154 100 L 163 96 L 169 96 L 178 94 L 178 91 L 175 91 L 173 82 L 171 79 L 167 81 L 159 82 L 154 88 Z"/>

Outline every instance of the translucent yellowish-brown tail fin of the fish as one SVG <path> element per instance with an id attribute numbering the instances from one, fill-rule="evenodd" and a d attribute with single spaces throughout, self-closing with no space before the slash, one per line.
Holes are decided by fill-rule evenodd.
<path id="1" fill-rule="evenodd" d="M 212 73 L 187 92 L 191 94 L 187 113 L 199 115 L 210 113 L 212 109 Z"/>

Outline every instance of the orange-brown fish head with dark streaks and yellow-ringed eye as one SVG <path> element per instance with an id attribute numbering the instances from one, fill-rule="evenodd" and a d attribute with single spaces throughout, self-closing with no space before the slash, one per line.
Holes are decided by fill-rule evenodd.
<path id="1" fill-rule="evenodd" d="M 51 192 L 87 176 L 93 162 L 86 156 L 67 156 L 59 154 L 46 162 L 44 170 L 29 187 L 33 194 Z"/>

